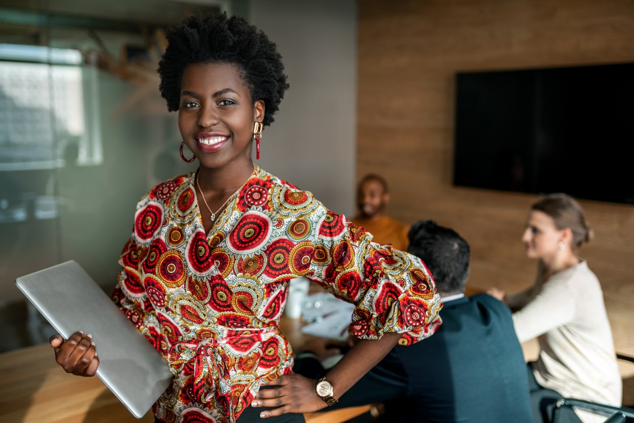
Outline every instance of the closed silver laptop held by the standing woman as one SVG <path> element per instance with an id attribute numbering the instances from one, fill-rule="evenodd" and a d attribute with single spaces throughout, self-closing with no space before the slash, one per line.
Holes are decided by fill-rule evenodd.
<path id="1" fill-rule="evenodd" d="M 71 260 L 15 283 L 63 337 L 77 330 L 93 335 L 97 375 L 135 417 L 143 417 L 171 383 L 169 365 L 93 278 Z"/>

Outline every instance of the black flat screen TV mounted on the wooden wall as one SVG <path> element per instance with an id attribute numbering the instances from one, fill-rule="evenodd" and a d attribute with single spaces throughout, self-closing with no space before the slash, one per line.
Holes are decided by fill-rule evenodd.
<path id="1" fill-rule="evenodd" d="M 458 73 L 453 183 L 634 204 L 634 63 Z"/>

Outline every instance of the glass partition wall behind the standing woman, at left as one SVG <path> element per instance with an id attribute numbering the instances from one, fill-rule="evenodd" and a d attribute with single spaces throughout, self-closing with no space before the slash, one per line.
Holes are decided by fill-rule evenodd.
<path id="1" fill-rule="evenodd" d="M 0 13 L 0 352 L 54 333 L 16 277 L 72 259 L 111 292 L 138 199 L 193 169 L 158 91 L 162 27 L 129 21 L 123 2 L 108 19 L 63 3 Z M 191 13 L 153 3 L 169 4 L 164 25 Z"/>

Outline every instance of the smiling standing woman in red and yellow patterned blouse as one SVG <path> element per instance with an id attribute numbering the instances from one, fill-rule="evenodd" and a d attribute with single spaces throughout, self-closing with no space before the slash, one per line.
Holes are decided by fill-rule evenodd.
<path id="1" fill-rule="evenodd" d="M 153 408 L 157 421 L 302 421 L 397 342 L 433 334 L 439 296 L 420 259 L 372 242 L 311 193 L 254 165 L 252 141 L 288 88 L 268 37 L 242 18 L 196 15 L 167 39 L 160 91 L 178 110 L 198 169 L 138 202 L 113 299 L 175 375 Z M 299 277 L 354 304 L 349 333 L 359 341 L 320 381 L 328 389 L 292 374 L 280 329 L 288 282 Z M 68 372 L 94 375 L 99 358 L 87 335 L 57 335 L 51 346 Z"/>

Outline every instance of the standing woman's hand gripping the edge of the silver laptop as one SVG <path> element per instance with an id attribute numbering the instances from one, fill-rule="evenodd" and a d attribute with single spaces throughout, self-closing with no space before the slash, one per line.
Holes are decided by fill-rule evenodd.
<path id="1" fill-rule="evenodd" d="M 49 342 L 55 349 L 55 361 L 67 373 L 87 377 L 97 373 L 99 357 L 93 335 L 77 331 L 66 340 L 61 335 L 53 335 Z"/>

